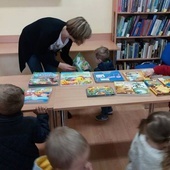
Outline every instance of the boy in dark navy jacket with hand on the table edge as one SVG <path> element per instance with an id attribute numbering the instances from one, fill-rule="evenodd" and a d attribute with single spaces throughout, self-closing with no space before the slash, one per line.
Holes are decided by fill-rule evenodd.
<path id="1" fill-rule="evenodd" d="M 38 107 L 37 117 L 24 117 L 24 92 L 12 84 L 0 84 L 0 169 L 30 170 L 39 156 L 35 143 L 49 133 L 46 109 Z"/>

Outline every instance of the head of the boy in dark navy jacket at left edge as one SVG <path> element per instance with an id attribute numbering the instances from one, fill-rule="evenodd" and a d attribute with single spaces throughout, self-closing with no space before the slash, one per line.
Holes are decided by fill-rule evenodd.
<path id="1" fill-rule="evenodd" d="M 12 84 L 0 84 L 0 114 L 12 115 L 24 105 L 24 92 Z"/>

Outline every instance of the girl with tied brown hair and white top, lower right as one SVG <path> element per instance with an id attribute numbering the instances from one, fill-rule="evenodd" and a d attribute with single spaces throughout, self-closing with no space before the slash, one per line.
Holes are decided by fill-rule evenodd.
<path id="1" fill-rule="evenodd" d="M 126 170 L 170 169 L 170 112 L 154 112 L 141 121 L 129 159 Z"/>

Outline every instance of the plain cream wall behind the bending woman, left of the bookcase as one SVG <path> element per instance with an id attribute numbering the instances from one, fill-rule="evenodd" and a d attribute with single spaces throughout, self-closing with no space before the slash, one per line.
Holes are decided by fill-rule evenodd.
<path id="1" fill-rule="evenodd" d="M 19 35 L 46 16 L 65 21 L 83 16 L 93 33 L 111 33 L 112 0 L 0 0 L 0 35 Z"/>

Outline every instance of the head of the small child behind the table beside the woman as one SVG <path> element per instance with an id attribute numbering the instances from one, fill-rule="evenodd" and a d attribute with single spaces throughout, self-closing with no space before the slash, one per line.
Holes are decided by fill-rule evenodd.
<path id="1" fill-rule="evenodd" d="M 104 62 L 110 58 L 109 49 L 103 46 L 99 47 L 95 50 L 95 56 L 97 59 L 100 59 Z"/>

